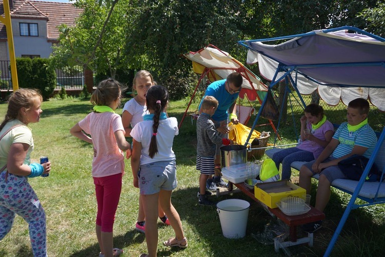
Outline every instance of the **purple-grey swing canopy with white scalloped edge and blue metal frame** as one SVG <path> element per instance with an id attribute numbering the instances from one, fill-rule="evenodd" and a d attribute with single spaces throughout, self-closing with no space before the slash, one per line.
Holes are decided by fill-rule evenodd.
<path id="1" fill-rule="evenodd" d="M 262 43 L 271 41 L 285 42 L 278 45 Z M 305 102 L 301 94 L 307 95 L 318 90 L 320 97 L 331 105 L 338 104 L 340 100 L 348 104 L 351 100 L 361 97 L 369 99 L 378 109 L 385 111 L 385 39 L 379 36 L 346 26 L 238 43 L 248 48 L 247 63 L 258 62 L 261 75 L 272 81 L 269 90 L 284 80 L 286 94 L 290 81 L 303 106 Z M 265 100 L 261 109 L 266 103 Z M 252 131 L 259 116 L 260 113 L 254 121 Z M 351 193 L 352 198 L 324 253 L 325 256 L 330 255 L 352 209 L 385 203 L 385 183 L 377 183 L 378 187 L 373 189 L 373 197 L 363 197 L 361 194 L 370 168 L 383 155 L 380 151 L 385 148 L 384 139 L 385 128 L 382 129 L 375 152 L 361 180 L 356 181 L 354 189 L 349 191 L 339 188 Z M 384 166 L 385 164 L 380 167 L 382 172 Z M 357 197 L 364 199 L 368 204 L 355 204 Z"/>

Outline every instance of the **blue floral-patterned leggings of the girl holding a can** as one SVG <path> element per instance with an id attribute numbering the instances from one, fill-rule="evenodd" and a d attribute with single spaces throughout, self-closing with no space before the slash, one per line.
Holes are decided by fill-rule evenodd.
<path id="1" fill-rule="evenodd" d="M 0 173 L 0 241 L 12 228 L 15 215 L 22 216 L 29 226 L 34 257 L 47 256 L 46 214 L 27 177 Z"/>

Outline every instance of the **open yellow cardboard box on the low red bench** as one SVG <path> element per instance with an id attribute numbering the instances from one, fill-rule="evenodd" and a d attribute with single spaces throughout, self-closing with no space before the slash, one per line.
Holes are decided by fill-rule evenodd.
<path id="1" fill-rule="evenodd" d="M 277 208 L 277 203 L 281 198 L 288 196 L 301 197 L 306 194 L 306 190 L 294 185 L 288 180 L 280 180 L 267 183 L 257 183 L 254 187 L 255 198 L 270 208 Z"/>

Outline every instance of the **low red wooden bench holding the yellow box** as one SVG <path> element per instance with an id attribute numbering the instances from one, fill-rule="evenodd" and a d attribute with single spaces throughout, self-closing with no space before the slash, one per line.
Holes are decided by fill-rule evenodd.
<path id="1" fill-rule="evenodd" d="M 322 219 L 325 218 L 325 214 L 316 208 L 311 207 L 309 212 L 306 212 L 305 214 L 301 215 L 295 215 L 295 216 L 288 216 L 284 214 L 279 208 L 274 208 L 271 209 L 261 203 L 257 198 L 255 198 L 254 195 L 254 189 L 249 189 L 248 187 L 245 186 L 245 184 L 242 183 L 235 183 L 234 186 L 239 188 L 243 193 L 245 193 L 247 196 L 252 198 L 253 200 L 257 201 L 257 203 L 265 206 L 269 212 L 277 216 L 281 221 L 283 221 L 285 224 L 289 226 L 289 238 L 290 241 L 288 242 L 278 242 L 275 241 L 275 249 L 276 251 L 279 250 L 279 248 L 285 248 L 287 246 L 292 246 L 292 245 L 298 245 L 298 244 L 303 244 L 303 243 L 309 243 L 309 246 L 313 246 L 313 233 L 308 233 L 307 237 L 297 239 L 297 226 L 311 223 L 311 222 L 317 222 L 321 221 Z M 228 186 L 229 191 L 233 190 L 233 183 L 229 181 L 229 186 Z"/>

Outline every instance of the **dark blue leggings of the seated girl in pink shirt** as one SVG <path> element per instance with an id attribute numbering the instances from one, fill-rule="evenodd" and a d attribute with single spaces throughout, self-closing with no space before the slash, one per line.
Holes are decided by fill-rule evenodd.
<path id="1" fill-rule="evenodd" d="M 293 161 L 312 161 L 314 155 L 312 152 L 300 150 L 296 147 L 283 149 L 273 155 L 273 161 L 279 170 L 279 163 L 282 163 L 282 179 L 290 179 L 292 175 Z"/>

